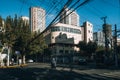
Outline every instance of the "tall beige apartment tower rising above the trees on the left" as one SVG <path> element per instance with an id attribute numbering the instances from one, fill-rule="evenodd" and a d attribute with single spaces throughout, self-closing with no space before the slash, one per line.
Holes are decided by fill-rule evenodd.
<path id="1" fill-rule="evenodd" d="M 31 32 L 41 33 L 45 29 L 45 10 L 40 7 L 30 8 Z"/>

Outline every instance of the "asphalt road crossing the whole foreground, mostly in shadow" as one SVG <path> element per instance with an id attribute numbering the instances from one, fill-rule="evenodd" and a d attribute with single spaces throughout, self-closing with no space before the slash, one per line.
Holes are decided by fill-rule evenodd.
<path id="1" fill-rule="evenodd" d="M 120 70 L 83 66 L 51 69 L 50 64 L 32 63 L 24 68 L 0 69 L 0 80 L 120 80 Z"/>

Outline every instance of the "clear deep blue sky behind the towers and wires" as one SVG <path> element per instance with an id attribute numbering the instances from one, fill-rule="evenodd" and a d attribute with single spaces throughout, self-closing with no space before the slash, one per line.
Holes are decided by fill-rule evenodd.
<path id="1" fill-rule="evenodd" d="M 66 1 L 0 0 L 0 16 L 4 19 L 9 15 L 14 17 L 15 14 L 29 17 L 29 8 L 38 6 L 46 10 L 46 25 L 48 25 L 59 13 Z M 73 0 L 73 2 L 75 1 L 77 0 Z M 80 0 L 80 3 L 84 1 Z M 94 32 L 102 30 L 102 24 L 104 22 L 101 18 L 105 16 L 107 16 L 106 22 L 112 25 L 112 29 L 114 29 L 115 24 L 120 29 L 120 0 L 90 0 L 88 3 L 76 9 L 76 12 L 80 16 L 80 26 L 83 22 L 89 21 L 94 26 Z"/>

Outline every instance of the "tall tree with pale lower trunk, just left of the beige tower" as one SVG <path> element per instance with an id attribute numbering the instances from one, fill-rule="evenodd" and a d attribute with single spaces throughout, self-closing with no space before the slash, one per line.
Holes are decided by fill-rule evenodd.
<path id="1" fill-rule="evenodd" d="M 18 25 L 16 28 L 16 40 L 14 44 L 14 50 L 20 51 L 20 54 L 22 56 L 22 63 L 25 63 L 25 55 L 28 53 L 27 51 L 27 43 L 31 39 L 31 34 L 29 30 L 29 26 L 25 25 L 25 22 L 19 18 Z"/>

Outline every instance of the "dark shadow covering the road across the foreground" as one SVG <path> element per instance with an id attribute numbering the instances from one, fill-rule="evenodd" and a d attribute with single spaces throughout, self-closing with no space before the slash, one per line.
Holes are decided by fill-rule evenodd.
<path id="1" fill-rule="evenodd" d="M 120 80 L 120 78 L 50 68 L 9 68 L 0 69 L 0 80 Z"/>

